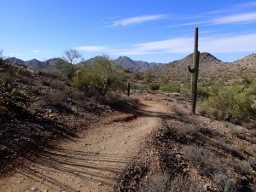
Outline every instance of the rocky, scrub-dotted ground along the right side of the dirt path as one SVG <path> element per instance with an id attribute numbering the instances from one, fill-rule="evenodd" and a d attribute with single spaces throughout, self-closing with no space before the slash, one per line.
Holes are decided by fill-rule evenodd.
<path id="1" fill-rule="evenodd" d="M 256 139 L 247 129 L 189 113 L 188 98 L 180 95 L 144 97 L 169 113 L 115 191 L 255 191 Z"/>

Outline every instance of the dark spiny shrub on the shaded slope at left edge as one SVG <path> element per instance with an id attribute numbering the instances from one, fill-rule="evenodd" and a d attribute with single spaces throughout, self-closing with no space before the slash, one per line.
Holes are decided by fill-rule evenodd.
<path id="1" fill-rule="evenodd" d="M 0 80 L 0 105 L 14 110 L 15 108 L 26 108 L 29 98 L 26 93 L 16 90 L 11 84 Z"/>

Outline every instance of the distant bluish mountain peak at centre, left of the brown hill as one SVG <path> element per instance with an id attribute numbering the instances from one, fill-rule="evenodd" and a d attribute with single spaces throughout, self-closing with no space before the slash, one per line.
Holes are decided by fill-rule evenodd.
<path id="1" fill-rule="evenodd" d="M 119 67 L 131 69 L 135 72 L 145 72 L 152 67 L 162 65 L 161 63 L 155 62 L 148 63 L 146 61 L 133 61 L 127 56 L 119 56 L 119 58 L 113 60 L 113 62 L 116 63 Z"/>

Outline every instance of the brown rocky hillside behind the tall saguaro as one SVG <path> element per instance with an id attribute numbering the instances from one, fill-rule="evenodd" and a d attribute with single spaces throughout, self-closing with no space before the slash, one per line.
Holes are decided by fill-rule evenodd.
<path id="1" fill-rule="evenodd" d="M 193 54 L 179 61 L 172 61 L 164 66 L 154 67 L 148 71 L 154 79 L 172 79 L 184 81 L 190 78 L 188 65 L 193 63 Z M 247 73 L 250 78 L 256 77 L 256 54 L 247 55 L 241 60 L 223 62 L 209 53 L 200 54 L 199 79 L 210 80 L 234 80 L 241 77 L 241 73 Z"/>

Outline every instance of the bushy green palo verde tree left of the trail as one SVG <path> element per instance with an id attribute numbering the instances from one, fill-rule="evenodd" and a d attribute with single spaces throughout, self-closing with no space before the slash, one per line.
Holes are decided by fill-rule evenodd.
<path id="1" fill-rule="evenodd" d="M 73 79 L 85 94 L 105 96 L 108 90 L 116 90 L 120 84 L 120 72 L 108 55 L 97 57 L 94 65 L 77 73 Z"/>

